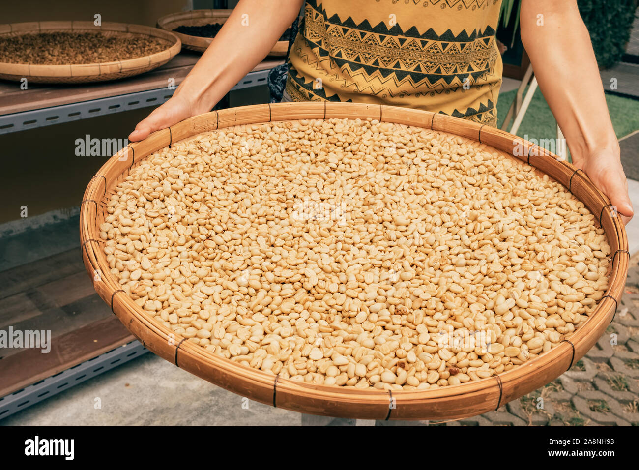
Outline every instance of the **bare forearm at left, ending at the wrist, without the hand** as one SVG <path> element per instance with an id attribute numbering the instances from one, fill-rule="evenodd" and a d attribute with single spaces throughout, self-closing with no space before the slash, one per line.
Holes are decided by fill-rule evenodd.
<path id="1" fill-rule="evenodd" d="M 240 0 L 176 96 L 187 95 L 194 114 L 210 111 L 268 55 L 301 7 L 302 0 Z"/>

